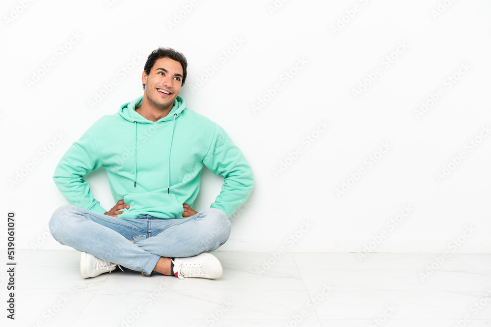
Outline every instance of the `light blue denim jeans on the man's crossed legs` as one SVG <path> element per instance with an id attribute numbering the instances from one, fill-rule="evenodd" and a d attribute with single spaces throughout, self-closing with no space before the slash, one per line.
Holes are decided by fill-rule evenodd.
<path id="1" fill-rule="evenodd" d="M 185 219 L 143 216 L 124 219 L 63 205 L 50 220 L 56 241 L 149 276 L 161 257 L 188 257 L 215 250 L 230 236 L 221 210 L 210 208 Z"/>

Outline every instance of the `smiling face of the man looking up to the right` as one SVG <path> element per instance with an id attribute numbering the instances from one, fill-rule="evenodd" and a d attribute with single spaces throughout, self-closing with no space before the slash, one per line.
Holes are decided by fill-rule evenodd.
<path id="1" fill-rule="evenodd" d="M 145 71 L 141 82 L 145 84 L 144 97 L 159 110 L 170 110 L 181 91 L 183 68 L 179 61 L 160 58 L 153 65 L 150 74 Z"/>

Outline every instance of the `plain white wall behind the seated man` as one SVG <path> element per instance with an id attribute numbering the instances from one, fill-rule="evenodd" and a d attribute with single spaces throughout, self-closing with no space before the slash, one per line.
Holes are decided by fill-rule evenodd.
<path id="1" fill-rule="evenodd" d="M 67 203 L 52 180 L 55 166 L 99 117 L 142 94 L 146 56 L 164 46 L 188 58 L 181 93 L 188 107 L 223 126 L 255 174 L 221 250 L 490 252 L 489 1 L 20 3 L 2 1 L 0 10 L 0 203 L 4 218 L 16 214 L 18 249 L 65 249 L 46 232 L 52 212 Z M 282 5 L 272 11 L 275 3 Z M 170 26 L 179 13 L 184 18 Z M 460 78 L 449 83 L 452 75 Z M 98 94 L 104 98 L 91 107 Z M 438 100 L 417 115 L 432 95 Z M 308 143 L 307 135 L 317 138 Z M 379 157 L 383 144 L 389 150 Z M 369 165 L 371 155 L 378 159 Z M 360 168 L 364 174 L 350 180 Z M 112 207 L 104 171 L 87 179 Z M 351 186 L 338 196 L 343 182 Z M 198 208 L 208 207 L 220 183 L 205 171 Z M 401 212 L 406 217 L 390 225 Z M 295 232 L 298 239 L 289 236 Z M 450 244 L 459 236 L 459 246 Z"/>

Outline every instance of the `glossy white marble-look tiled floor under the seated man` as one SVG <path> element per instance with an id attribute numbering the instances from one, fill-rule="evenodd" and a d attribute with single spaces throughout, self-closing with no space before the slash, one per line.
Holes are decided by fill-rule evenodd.
<path id="1" fill-rule="evenodd" d="M 214 254 L 223 266 L 216 280 L 129 270 L 83 279 L 79 252 L 20 251 L 16 321 L 2 320 L 16 327 L 491 327 L 491 254 Z"/>

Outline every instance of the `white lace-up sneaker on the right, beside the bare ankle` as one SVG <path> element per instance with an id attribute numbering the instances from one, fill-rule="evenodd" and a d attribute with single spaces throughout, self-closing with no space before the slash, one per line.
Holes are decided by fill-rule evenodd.
<path id="1" fill-rule="evenodd" d="M 203 252 L 188 258 L 175 258 L 174 275 L 180 279 L 190 277 L 215 279 L 223 274 L 220 261 L 215 255 Z"/>

